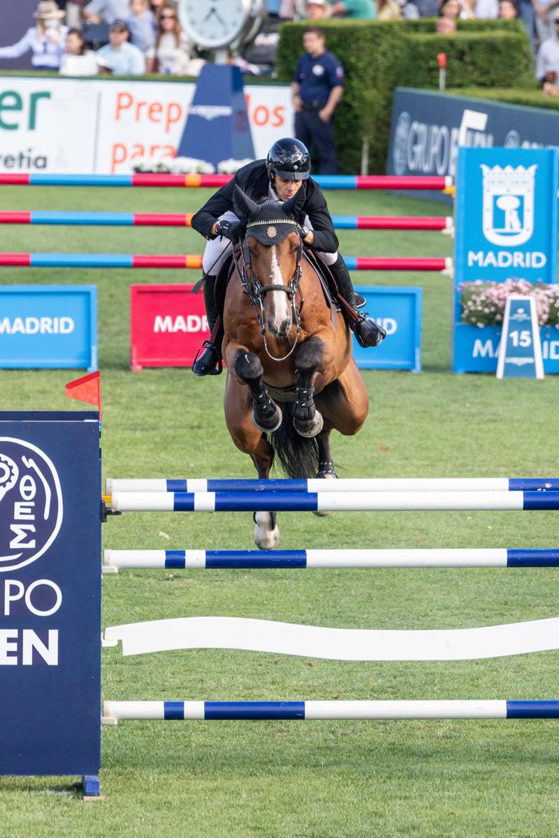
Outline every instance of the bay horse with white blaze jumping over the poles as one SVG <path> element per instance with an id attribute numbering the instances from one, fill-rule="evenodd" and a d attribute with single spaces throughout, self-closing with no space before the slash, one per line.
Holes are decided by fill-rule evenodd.
<path id="1" fill-rule="evenodd" d="M 269 477 L 274 455 L 287 477 L 335 478 L 330 433 L 357 433 L 369 411 L 352 334 L 303 252 L 293 220 L 303 201 L 302 188 L 257 204 L 236 186 L 246 227 L 225 292 L 225 422 L 259 478 Z M 256 546 L 275 547 L 277 513 L 254 520 Z"/>

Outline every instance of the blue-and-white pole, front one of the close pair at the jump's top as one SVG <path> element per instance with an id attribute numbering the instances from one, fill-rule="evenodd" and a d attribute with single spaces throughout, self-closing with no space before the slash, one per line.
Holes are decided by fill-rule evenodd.
<path id="1" fill-rule="evenodd" d="M 559 510 L 559 492 L 113 492 L 116 512 Z"/>

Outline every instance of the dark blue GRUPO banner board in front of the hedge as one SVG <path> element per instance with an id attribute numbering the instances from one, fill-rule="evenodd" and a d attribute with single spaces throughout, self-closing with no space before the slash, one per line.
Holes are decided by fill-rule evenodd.
<path id="1" fill-rule="evenodd" d="M 459 146 L 546 148 L 556 146 L 557 137 L 559 112 L 548 108 L 398 87 L 386 172 L 454 177 Z M 437 193 L 429 197 L 452 200 Z"/>

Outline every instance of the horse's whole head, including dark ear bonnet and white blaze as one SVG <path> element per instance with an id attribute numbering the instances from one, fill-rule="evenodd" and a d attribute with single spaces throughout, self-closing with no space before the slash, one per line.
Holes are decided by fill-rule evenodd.
<path id="1" fill-rule="evenodd" d="M 265 325 L 275 338 L 285 338 L 293 325 L 303 248 L 293 215 L 302 209 L 304 200 L 304 189 L 299 189 L 283 203 L 256 204 L 235 188 L 236 211 L 246 221 L 243 256 L 249 296 L 261 306 Z"/>

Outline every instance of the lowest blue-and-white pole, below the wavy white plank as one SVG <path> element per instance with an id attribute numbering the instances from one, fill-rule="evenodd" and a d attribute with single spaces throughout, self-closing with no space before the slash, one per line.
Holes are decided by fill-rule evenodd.
<path id="1" fill-rule="evenodd" d="M 105 701 L 102 722 L 556 718 L 559 701 Z"/>

